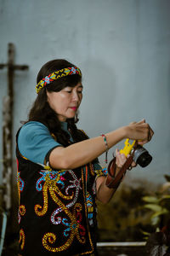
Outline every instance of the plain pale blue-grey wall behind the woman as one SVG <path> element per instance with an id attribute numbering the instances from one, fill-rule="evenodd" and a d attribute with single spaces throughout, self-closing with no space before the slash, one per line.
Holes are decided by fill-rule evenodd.
<path id="1" fill-rule="evenodd" d="M 14 134 L 36 97 L 40 67 L 65 58 L 82 69 L 79 127 L 94 137 L 145 118 L 155 131 L 146 146 L 153 161 L 128 175 L 163 182 L 170 171 L 169 9 L 168 0 L 0 0 L 0 63 L 12 42 L 16 63 L 29 65 L 14 75 Z M 6 73 L 0 70 L 1 123 Z"/>

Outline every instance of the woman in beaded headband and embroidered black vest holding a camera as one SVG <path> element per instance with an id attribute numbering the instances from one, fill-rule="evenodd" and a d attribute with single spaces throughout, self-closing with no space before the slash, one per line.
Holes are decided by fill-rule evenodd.
<path id="1" fill-rule="evenodd" d="M 17 133 L 20 255 L 96 255 L 95 199 L 110 201 L 97 157 L 124 138 L 150 141 L 144 120 L 88 138 L 77 129 L 82 73 L 65 60 L 37 75 L 37 99 Z M 126 157 L 116 150 L 116 173 Z"/>

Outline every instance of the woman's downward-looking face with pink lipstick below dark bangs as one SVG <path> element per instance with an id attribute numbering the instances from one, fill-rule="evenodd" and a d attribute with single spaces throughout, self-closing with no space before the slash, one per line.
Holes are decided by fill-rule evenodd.
<path id="1" fill-rule="evenodd" d="M 65 122 L 66 119 L 75 117 L 77 109 L 82 102 L 82 83 L 75 87 L 65 87 L 57 92 L 48 91 L 48 104 L 57 113 L 59 121 Z"/>

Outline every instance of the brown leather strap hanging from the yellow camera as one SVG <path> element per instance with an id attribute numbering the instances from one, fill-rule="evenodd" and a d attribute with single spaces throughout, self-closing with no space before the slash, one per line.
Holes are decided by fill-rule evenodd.
<path id="1" fill-rule="evenodd" d="M 133 162 L 133 155 L 130 155 L 124 165 L 122 166 L 121 170 L 116 174 L 116 157 L 114 157 L 108 166 L 108 176 L 106 178 L 105 185 L 109 189 L 117 189 L 119 184 L 122 181 L 122 177 L 127 172 L 127 169 L 132 165 Z"/>

